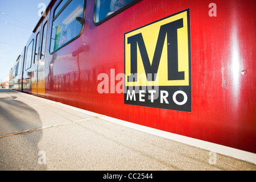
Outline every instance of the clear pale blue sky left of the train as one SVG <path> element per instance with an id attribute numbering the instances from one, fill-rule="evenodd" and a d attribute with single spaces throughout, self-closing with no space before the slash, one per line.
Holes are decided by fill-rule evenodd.
<path id="1" fill-rule="evenodd" d="M 42 4 L 50 0 L 0 0 L 0 82 L 6 81 L 11 67 L 26 46 L 38 23 Z"/>

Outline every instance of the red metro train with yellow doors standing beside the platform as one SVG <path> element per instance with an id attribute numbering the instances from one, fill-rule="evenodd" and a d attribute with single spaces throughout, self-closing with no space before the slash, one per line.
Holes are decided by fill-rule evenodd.
<path id="1" fill-rule="evenodd" d="M 256 1 L 52 0 L 10 88 L 256 153 Z"/>

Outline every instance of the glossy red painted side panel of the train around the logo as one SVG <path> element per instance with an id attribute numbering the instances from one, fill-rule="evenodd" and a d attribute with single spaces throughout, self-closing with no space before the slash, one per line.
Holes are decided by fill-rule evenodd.
<path id="1" fill-rule="evenodd" d="M 96 26 L 94 0 L 88 0 L 81 36 L 52 55 L 47 51 L 46 98 L 255 153 L 256 2 L 216 0 L 217 16 L 209 16 L 210 3 L 141 0 Z M 126 32 L 188 8 L 191 18 L 191 113 L 125 105 L 123 93 L 98 93 L 100 73 L 108 75 L 109 84 L 113 84 L 110 69 L 114 69 L 114 76 L 124 73 Z M 48 32 L 51 32 L 51 17 Z"/>

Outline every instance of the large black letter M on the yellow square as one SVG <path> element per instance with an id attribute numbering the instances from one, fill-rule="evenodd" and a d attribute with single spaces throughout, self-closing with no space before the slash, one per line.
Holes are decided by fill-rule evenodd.
<path id="1" fill-rule="evenodd" d="M 129 37 L 127 43 L 131 44 L 131 76 L 132 79 L 129 79 L 129 82 L 137 81 L 137 43 L 139 51 L 141 52 L 142 62 L 146 76 L 148 73 L 156 74 L 158 73 L 158 67 L 160 63 L 160 58 L 162 56 L 164 40 L 167 36 L 167 69 L 168 69 L 168 80 L 184 80 L 184 72 L 178 71 L 178 48 L 177 48 L 177 29 L 183 28 L 183 19 L 175 20 L 174 22 L 164 24 L 160 27 L 158 40 L 156 42 L 155 53 L 152 60 L 152 65 L 148 58 L 148 53 L 142 34 L 137 34 Z M 134 80 L 134 79 L 135 80 Z M 152 78 L 155 81 L 155 77 Z M 152 81 L 151 77 L 147 77 L 148 81 Z"/>

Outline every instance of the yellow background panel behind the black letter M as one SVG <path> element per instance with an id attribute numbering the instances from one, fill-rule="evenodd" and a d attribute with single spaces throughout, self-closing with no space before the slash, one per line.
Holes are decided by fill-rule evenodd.
<path id="1" fill-rule="evenodd" d="M 187 20 L 187 11 L 183 13 L 177 14 L 175 16 L 171 16 L 169 18 L 160 20 L 159 22 L 150 24 L 148 26 L 139 28 L 138 30 L 132 31 L 125 35 L 125 73 L 126 73 L 126 85 L 127 86 L 142 86 L 142 82 L 139 83 L 139 80 L 135 82 L 129 82 L 128 77 L 131 75 L 131 63 L 133 56 L 131 52 L 131 48 L 134 48 L 137 52 L 137 71 L 134 73 L 138 73 L 138 75 L 143 75 L 146 78 L 146 71 L 143 65 L 142 57 L 148 56 L 148 63 L 150 63 L 151 67 L 158 66 L 158 77 L 159 77 L 159 86 L 162 85 L 189 85 L 189 61 L 188 61 L 188 20 Z M 177 38 L 174 35 L 168 34 L 176 34 Z M 144 46 L 146 48 L 147 55 L 142 55 L 143 44 L 139 41 L 143 39 Z M 168 39 L 170 39 L 168 42 Z M 172 41 L 174 40 L 174 41 Z M 172 45 L 171 45 L 172 44 Z M 168 48 L 170 47 L 170 48 Z M 161 49 L 162 51 L 158 50 Z M 176 57 L 170 62 L 177 62 L 173 65 L 168 65 L 168 49 L 175 49 L 177 51 L 177 59 Z M 145 50 L 143 50 L 145 51 Z M 156 52 L 159 51 L 159 52 Z M 162 55 L 161 55 L 162 53 Z M 156 54 L 159 54 L 157 57 Z M 155 58 L 155 59 L 154 59 Z M 147 59 L 147 58 L 146 58 Z M 159 60 L 156 60 L 159 59 Z M 159 65 L 153 65 L 152 61 L 156 61 Z M 147 63 L 144 63 L 147 64 Z M 175 78 L 168 79 L 168 68 L 173 69 L 175 73 L 180 72 L 180 75 L 184 75 L 182 79 L 176 80 Z M 150 67 L 150 66 L 149 66 Z M 176 69 L 176 70 L 175 70 Z M 170 73 L 169 73 L 170 74 Z M 144 79 L 147 80 L 147 79 Z M 147 84 L 147 82 L 144 82 Z M 154 85 L 154 84 L 153 84 Z"/>

